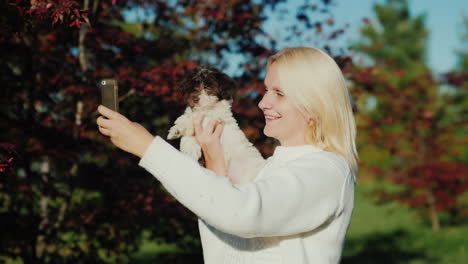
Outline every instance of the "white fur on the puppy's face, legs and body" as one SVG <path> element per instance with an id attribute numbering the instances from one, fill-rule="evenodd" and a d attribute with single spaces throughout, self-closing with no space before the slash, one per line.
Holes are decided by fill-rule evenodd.
<path id="1" fill-rule="evenodd" d="M 174 126 L 169 130 L 167 138 L 181 137 L 180 151 L 198 161 L 201 157 L 201 148 L 195 139 L 192 121 L 193 116 L 198 113 L 205 115 L 203 126 L 206 126 L 210 120 L 224 122 L 221 144 L 227 162 L 229 180 L 236 186 L 253 181 L 265 164 L 265 160 L 239 128 L 232 116 L 231 102 L 219 101 L 217 97 L 208 95 L 202 90 L 197 105 L 185 109 L 184 114 L 176 119 Z"/>

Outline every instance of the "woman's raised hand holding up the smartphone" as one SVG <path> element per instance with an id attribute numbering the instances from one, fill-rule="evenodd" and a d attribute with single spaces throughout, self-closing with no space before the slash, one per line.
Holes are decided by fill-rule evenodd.
<path id="1" fill-rule="evenodd" d="M 97 119 L 99 132 L 110 137 L 116 147 L 140 158 L 143 157 L 154 136 L 140 124 L 105 106 L 100 105 L 98 112 L 102 115 Z"/>

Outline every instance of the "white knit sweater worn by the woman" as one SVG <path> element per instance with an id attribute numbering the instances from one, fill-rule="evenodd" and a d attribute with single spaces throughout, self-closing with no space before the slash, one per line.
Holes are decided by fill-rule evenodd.
<path id="1" fill-rule="evenodd" d="M 277 147 L 255 181 L 242 187 L 160 137 L 139 164 L 198 215 L 206 264 L 339 263 L 355 183 L 332 152 Z"/>

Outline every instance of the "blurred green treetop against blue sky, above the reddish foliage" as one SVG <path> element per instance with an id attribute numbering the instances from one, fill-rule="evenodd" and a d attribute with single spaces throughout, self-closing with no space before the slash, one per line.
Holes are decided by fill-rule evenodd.
<path id="1" fill-rule="evenodd" d="M 406 0 L 388 0 L 375 4 L 378 24 L 368 22 L 361 28 L 362 39 L 352 45 L 356 51 L 368 56 L 380 70 L 402 72 L 397 81 L 400 85 L 414 81 L 428 71 L 426 64 L 428 31 L 425 15 L 412 16 Z M 396 84 L 396 83 L 392 83 Z"/>

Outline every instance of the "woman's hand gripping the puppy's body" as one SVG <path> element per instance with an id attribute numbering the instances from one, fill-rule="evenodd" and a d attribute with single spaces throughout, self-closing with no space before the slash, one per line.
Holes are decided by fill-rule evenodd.
<path id="1" fill-rule="evenodd" d="M 193 118 L 195 138 L 200 145 L 205 158 L 207 169 L 214 171 L 220 176 L 227 176 L 226 161 L 224 159 L 223 146 L 221 145 L 221 134 L 224 123 L 211 120 L 203 127 L 205 116 L 197 115 Z"/>

